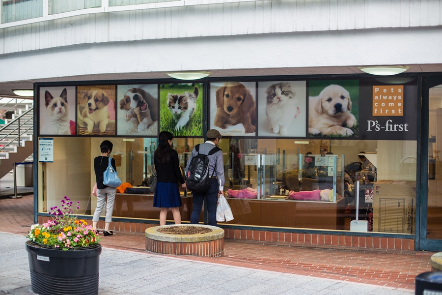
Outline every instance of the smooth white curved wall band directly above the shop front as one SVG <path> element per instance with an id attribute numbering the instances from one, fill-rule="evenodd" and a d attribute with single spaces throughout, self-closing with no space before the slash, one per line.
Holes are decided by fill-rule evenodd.
<path id="1" fill-rule="evenodd" d="M 336 65 L 439 63 L 441 48 L 441 29 L 435 28 L 94 43 L 0 55 L 0 82 L 145 72 L 165 78 L 166 71 L 216 69 L 249 69 L 233 74 L 253 75 L 255 68 L 271 68 L 266 75 L 290 75 L 291 67 L 309 68 L 303 73 L 312 74 L 317 67 Z"/>

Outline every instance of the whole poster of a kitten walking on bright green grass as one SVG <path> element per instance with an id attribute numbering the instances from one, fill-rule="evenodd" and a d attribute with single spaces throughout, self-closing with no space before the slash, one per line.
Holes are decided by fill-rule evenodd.
<path id="1" fill-rule="evenodd" d="M 160 85 L 160 131 L 173 136 L 203 136 L 202 83 Z"/>

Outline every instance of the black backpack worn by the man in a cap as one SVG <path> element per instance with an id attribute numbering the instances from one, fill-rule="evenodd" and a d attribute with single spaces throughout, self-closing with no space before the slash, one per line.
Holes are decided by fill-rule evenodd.
<path id="1" fill-rule="evenodd" d="M 186 185 L 187 188 L 193 193 L 203 193 L 210 187 L 208 155 L 213 155 L 217 151 L 221 150 L 221 148 L 212 148 L 208 155 L 199 153 L 199 145 L 195 146 L 195 150 L 198 152 L 198 154 L 192 158 L 192 161 L 189 164 Z M 216 167 L 213 173 L 215 173 L 215 170 Z"/>

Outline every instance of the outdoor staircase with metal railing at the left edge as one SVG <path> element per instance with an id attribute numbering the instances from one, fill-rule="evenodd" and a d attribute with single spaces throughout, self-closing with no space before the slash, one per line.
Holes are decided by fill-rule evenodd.
<path id="1" fill-rule="evenodd" d="M 12 113 L 12 118 L 5 119 L 5 123 L 0 125 L 1 178 L 12 170 L 13 162 L 23 162 L 32 155 L 34 108 L 31 101 L 18 103 L 13 98 L 1 105 L 0 109 L 7 114 Z"/>

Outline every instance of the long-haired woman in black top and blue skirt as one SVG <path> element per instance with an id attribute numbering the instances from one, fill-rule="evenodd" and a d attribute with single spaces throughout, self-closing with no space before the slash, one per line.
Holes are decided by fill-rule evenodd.
<path id="1" fill-rule="evenodd" d="M 157 185 L 155 187 L 154 207 L 161 208 L 160 225 L 166 225 L 169 208 L 172 210 L 175 224 L 181 224 L 181 214 L 178 207 L 181 203 L 178 181 L 185 187 L 181 175 L 178 153 L 172 147 L 173 136 L 170 132 L 162 131 L 158 136 L 158 148 L 154 153 Z"/>

